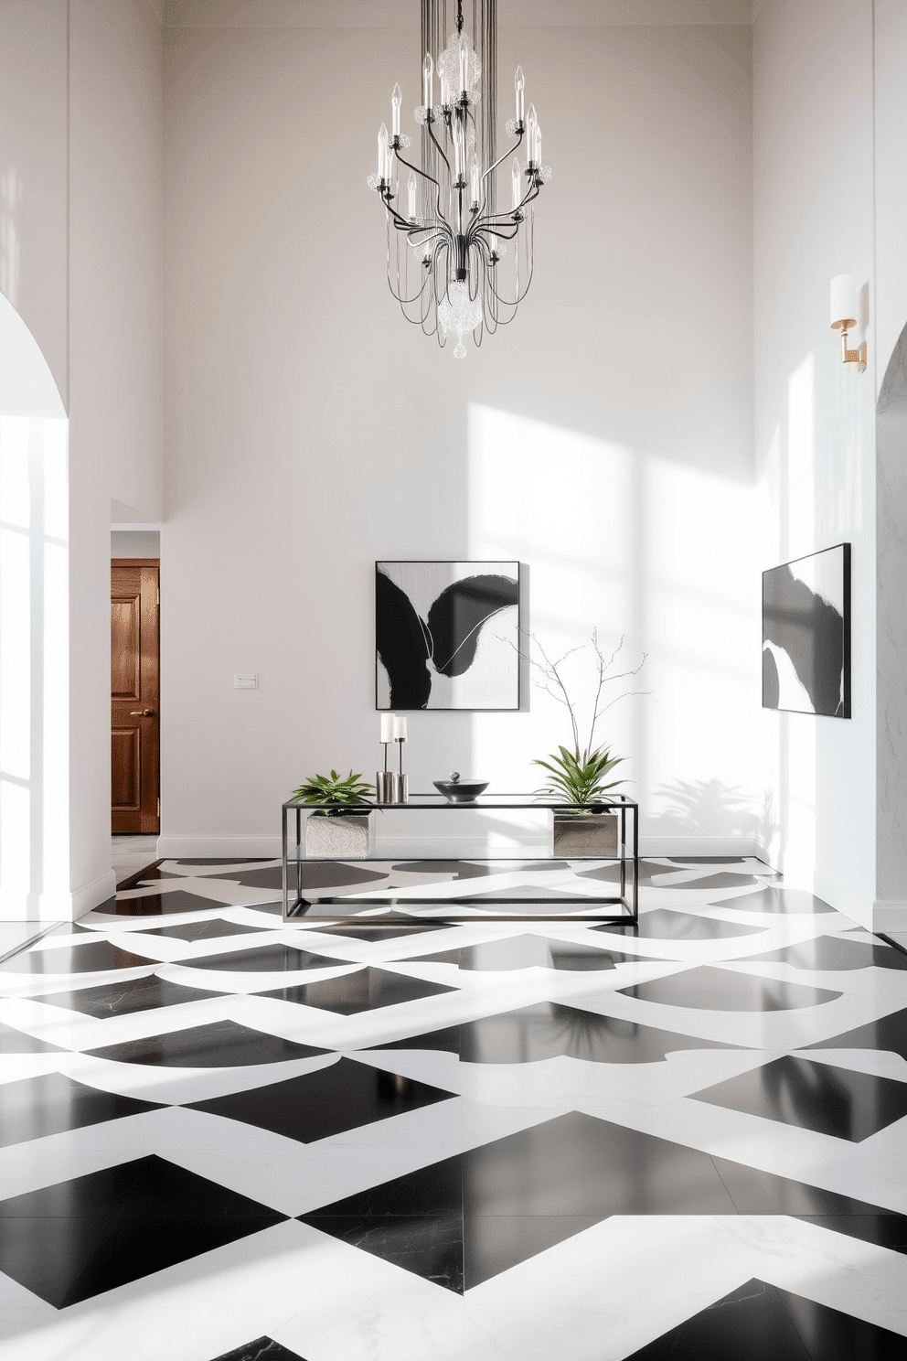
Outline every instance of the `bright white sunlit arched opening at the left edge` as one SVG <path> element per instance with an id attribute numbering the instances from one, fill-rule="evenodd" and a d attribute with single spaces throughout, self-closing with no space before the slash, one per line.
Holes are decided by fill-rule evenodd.
<path id="1" fill-rule="evenodd" d="M 69 422 L 0 295 L 0 919 L 72 916 Z"/>

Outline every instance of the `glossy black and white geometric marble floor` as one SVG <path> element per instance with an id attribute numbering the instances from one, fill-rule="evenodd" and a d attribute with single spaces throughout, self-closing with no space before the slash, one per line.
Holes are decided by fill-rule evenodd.
<path id="1" fill-rule="evenodd" d="M 900 1358 L 907 955 L 755 860 L 640 882 L 284 925 L 165 862 L 5 960 L 3 1361 Z"/>

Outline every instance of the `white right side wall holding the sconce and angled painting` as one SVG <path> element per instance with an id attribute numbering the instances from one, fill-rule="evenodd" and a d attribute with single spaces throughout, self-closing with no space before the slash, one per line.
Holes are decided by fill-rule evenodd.
<path id="1" fill-rule="evenodd" d="M 756 461 L 761 565 L 853 543 L 853 719 L 760 715 L 772 853 L 869 925 L 876 853 L 876 344 L 858 376 L 829 280 L 873 279 L 872 0 L 767 0 L 753 26 Z"/>

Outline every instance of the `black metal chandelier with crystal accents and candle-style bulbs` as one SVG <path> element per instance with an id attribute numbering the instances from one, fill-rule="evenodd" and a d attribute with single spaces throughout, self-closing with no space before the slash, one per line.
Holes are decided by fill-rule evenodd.
<path id="1" fill-rule="evenodd" d="M 462 0 L 457 31 L 447 45 L 446 0 L 422 0 L 420 165 L 401 152 L 403 95 L 390 101 L 392 128 L 378 133 L 378 174 L 369 188 L 381 195 L 388 219 L 388 283 L 408 321 L 443 347 L 457 336 L 454 357 L 466 354 L 464 336 L 481 344 L 485 331 L 513 321 L 533 274 L 534 201 L 551 167 L 541 163 L 541 128 L 534 105 L 524 114 L 524 75 L 514 76 L 515 142 L 498 158 L 498 0 L 473 0 L 473 41 L 464 33 Z M 437 61 L 432 52 L 439 53 Z M 435 103 L 435 75 L 441 102 Z M 525 159 L 519 157 L 524 150 Z M 510 208 L 498 206 L 498 170 L 510 157 Z M 407 177 L 405 211 L 400 185 Z"/>

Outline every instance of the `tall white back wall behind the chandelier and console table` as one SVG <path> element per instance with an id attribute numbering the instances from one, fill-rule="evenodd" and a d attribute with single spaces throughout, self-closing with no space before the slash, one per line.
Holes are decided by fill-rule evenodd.
<path id="1" fill-rule="evenodd" d="M 484 554 L 528 565 L 547 645 L 650 653 L 601 732 L 650 848 L 749 847 L 749 27 L 502 30 L 502 122 L 519 60 L 555 178 L 521 316 L 457 363 L 390 299 L 364 184 L 415 31 L 167 15 L 200 26 L 165 30 L 162 852 L 271 849 L 303 774 L 370 773 L 374 559 Z M 416 715 L 412 785 L 533 788 L 564 735 L 538 694 Z"/>

